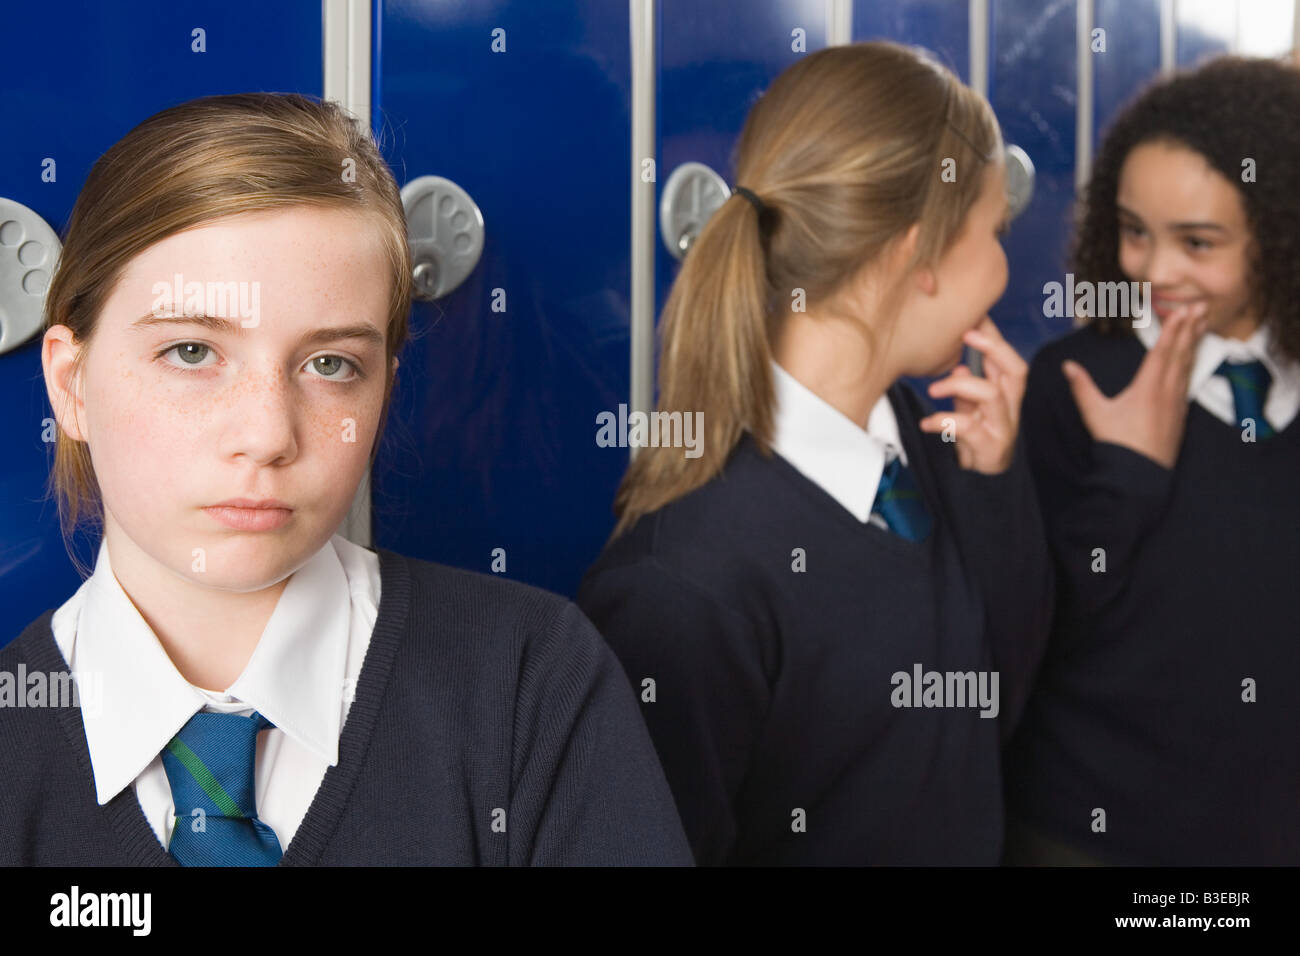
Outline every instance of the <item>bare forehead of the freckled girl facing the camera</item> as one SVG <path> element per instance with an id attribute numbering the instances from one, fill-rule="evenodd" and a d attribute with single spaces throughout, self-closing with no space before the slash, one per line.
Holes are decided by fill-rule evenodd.
<path id="1" fill-rule="evenodd" d="M 378 320 L 391 284 L 381 237 L 373 217 L 347 209 L 292 207 L 214 220 L 136 255 L 109 306 L 143 315 L 164 287 L 170 294 L 191 282 L 244 282 L 256 284 L 264 310 L 286 317 L 328 308 Z"/>

